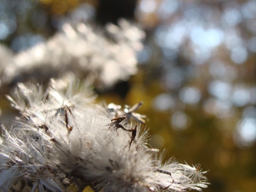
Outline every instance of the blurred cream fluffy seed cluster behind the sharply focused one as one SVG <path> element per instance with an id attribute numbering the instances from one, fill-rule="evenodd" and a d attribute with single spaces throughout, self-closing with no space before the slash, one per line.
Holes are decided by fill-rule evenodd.
<path id="1" fill-rule="evenodd" d="M 70 73 L 90 77 L 99 89 L 126 81 L 137 73 L 136 54 L 145 33 L 126 20 L 118 24 L 97 29 L 67 19 L 52 38 L 18 54 L 0 44 L 0 87 Z"/>

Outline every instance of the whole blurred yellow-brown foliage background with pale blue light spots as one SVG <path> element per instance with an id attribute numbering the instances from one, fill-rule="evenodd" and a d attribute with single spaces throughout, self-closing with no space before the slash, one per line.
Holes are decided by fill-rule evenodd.
<path id="1" fill-rule="evenodd" d="M 0 39 L 20 52 L 52 36 L 65 14 L 93 22 L 103 1 L 115 3 L 1 0 Z M 109 10 L 106 18 L 118 8 Z M 138 111 L 150 119 L 153 148 L 209 169 L 204 191 L 253 191 L 256 1 L 140 0 L 134 19 L 148 34 L 139 72 L 127 94 L 120 97 L 117 86 L 102 98 L 120 105 L 143 100 Z"/>

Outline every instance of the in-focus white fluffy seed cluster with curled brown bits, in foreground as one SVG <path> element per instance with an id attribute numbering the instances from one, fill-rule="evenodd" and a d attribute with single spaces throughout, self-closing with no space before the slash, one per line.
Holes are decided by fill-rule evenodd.
<path id="1" fill-rule="evenodd" d="M 18 84 L 11 96 L 20 111 L 3 128 L 0 191 L 201 191 L 200 165 L 163 163 L 147 144 L 141 103 L 122 109 L 95 103 L 85 82 Z M 72 189 L 73 190 L 73 189 Z"/>

